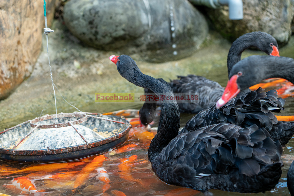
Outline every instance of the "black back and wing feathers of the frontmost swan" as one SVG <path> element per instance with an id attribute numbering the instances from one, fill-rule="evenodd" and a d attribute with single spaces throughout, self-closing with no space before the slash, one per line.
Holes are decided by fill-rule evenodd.
<path id="1" fill-rule="evenodd" d="M 258 128 L 256 125 L 240 128 L 237 125 L 220 123 L 179 134 L 162 150 L 154 164 L 157 168 L 155 172 L 163 179 L 169 178 L 169 174 L 164 171 L 167 168 L 161 166 L 167 163 L 169 167 L 174 168 L 176 165 L 185 166 L 186 170 L 195 173 L 196 177 L 191 181 L 186 178 L 183 183 L 185 186 L 190 184 L 188 187 L 199 190 L 199 187 L 193 187 L 200 186 L 197 184 L 197 179 L 208 177 L 214 180 L 208 183 L 209 186 L 218 183 L 216 175 L 230 177 L 233 173 L 234 175 L 238 173 L 255 178 L 258 175 L 264 176 L 263 173 L 271 170 L 276 164 L 278 166 L 275 166 L 277 167 L 275 175 L 278 176 L 275 177 L 277 179 L 274 183 L 278 183 L 281 175 L 280 167 L 283 165 L 280 159 L 281 153 L 280 142 L 273 141 L 268 131 L 263 128 Z M 175 172 L 173 170 L 173 177 Z"/>

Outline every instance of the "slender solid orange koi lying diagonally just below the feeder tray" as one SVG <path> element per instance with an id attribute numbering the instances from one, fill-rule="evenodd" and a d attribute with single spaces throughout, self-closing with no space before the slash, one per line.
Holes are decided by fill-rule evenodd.
<path id="1" fill-rule="evenodd" d="M 95 170 L 97 167 L 101 167 L 102 163 L 106 160 L 106 157 L 104 155 L 99 155 L 95 157 L 90 163 L 88 163 L 83 169 L 80 171 L 80 173 L 76 177 L 76 181 L 74 182 L 74 189 L 79 187 L 83 184 L 83 182 L 86 181 L 86 179 L 89 177 L 90 172 Z M 72 190 L 75 191 L 75 190 Z"/>

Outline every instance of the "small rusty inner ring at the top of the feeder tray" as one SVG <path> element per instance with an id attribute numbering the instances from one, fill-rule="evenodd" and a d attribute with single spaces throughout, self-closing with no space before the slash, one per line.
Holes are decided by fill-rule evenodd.
<path id="1" fill-rule="evenodd" d="M 51 114 L 51 115 L 44 115 L 38 118 L 34 118 L 33 120 L 30 121 L 30 125 L 31 127 L 36 127 L 38 124 L 36 124 L 37 122 L 43 121 L 43 120 L 49 120 L 49 119 L 54 119 L 56 117 L 55 114 Z M 76 125 L 76 124 L 80 124 L 85 122 L 88 119 L 88 116 L 86 114 L 83 113 L 59 113 L 57 114 L 57 118 L 70 118 L 70 117 L 75 117 L 75 118 L 79 118 L 78 120 L 73 120 L 73 121 L 68 121 L 65 123 L 57 123 L 57 124 L 50 124 L 50 125 L 39 125 L 39 129 L 50 129 L 50 128 L 60 128 L 60 127 L 68 127 L 72 125 Z"/>

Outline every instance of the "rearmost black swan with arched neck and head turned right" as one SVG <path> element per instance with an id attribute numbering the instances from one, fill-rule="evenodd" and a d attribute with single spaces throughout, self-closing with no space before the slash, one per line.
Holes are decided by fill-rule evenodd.
<path id="1" fill-rule="evenodd" d="M 249 48 L 256 47 L 271 56 L 279 56 L 278 43 L 268 33 L 251 32 L 237 38 L 228 53 L 227 66 L 228 73 L 238 61 L 241 60 L 242 52 Z M 180 103 L 180 113 L 198 113 L 203 109 L 215 105 L 216 101 L 223 94 L 223 87 L 215 81 L 211 81 L 202 76 L 188 75 L 178 76 L 179 80 L 173 80 L 169 83 L 174 93 L 199 93 L 200 103 Z M 243 94 L 249 92 L 249 89 L 243 91 Z"/>

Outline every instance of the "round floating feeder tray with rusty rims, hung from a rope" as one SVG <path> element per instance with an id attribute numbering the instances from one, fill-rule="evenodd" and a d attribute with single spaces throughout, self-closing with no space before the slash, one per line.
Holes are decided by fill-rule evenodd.
<path id="1" fill-rule="evenodd" d="M 19 163 L 69 161 L 99 154 L 128 139 L 124 117 L 74 112 L 44 115 L 0 132 L 0 159 Z"/>

